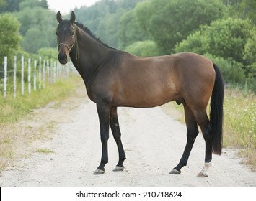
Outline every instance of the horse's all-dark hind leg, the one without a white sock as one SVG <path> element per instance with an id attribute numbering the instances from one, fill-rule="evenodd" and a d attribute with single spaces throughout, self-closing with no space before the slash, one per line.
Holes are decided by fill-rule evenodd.
<path id="1" fill-rule="evenodd" d="M 193 147 L 196 136 L 198 136 L 198 124 L 195 121 L 195 117 L 186 103 L 183 103 L 183 106 L 185 111 L 185 121 L 187 125 L 187 144 L 185 146 L 185 150 L 182 154 L 179 164 L 174 169 L 172 169 L 170 174 L 180 174 L 180 169 L 187 165 L 190 151 Z"/>

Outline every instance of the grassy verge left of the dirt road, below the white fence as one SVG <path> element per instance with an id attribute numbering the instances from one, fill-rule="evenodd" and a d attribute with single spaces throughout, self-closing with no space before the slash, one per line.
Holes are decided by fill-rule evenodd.
<path id="1" fill-rule="evenodd" d="M 56 116 L 53 117 L 52 113 L 61 112 L 58 108 L 63 100 L 74 94 L 79 85 L 81 78 L 74 76 L 69 80 L 59 80 L 31 95 L 17 95 L 17 98 L 10 95 L 6 100 L 0 98 L 0 172 L 11 167 L 15 159 L 29 156 L 32 149 L 39 153 L 51 153 L 37 146 L 40 141 L 50 138 L 56 124 Z M 48 103 L 51 113 L 45 110 L 34 112 L 35 108 L 42 108 Z M 66 110 L 69 110 L 69 105 Z"/>

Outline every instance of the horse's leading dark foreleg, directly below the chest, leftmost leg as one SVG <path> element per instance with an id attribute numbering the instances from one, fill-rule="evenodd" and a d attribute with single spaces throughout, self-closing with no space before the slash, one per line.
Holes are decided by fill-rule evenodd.
<path id="1" fill-rule="evenodd" d="M 110 108 L 107 106 L 102 106 L 97 104 L 97 112 L 100 119 L 100 139 L 102 142 L 102 158 L 100 166 L 97 167 L 94 174 L 104 174 L 105 164 L 108 162 L 107 155 L 107 140 L 109 138 L 109 128 L 110 128 Z"/>

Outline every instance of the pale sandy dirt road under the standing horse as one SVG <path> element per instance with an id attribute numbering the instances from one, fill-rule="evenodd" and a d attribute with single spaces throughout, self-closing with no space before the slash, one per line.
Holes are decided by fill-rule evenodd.
<path id="1" fill-rule="evenodd" d="M 195 141 L 182 174 L 169 172 L 180 160 L 186 128 L 163 110 L 120 108 L 120 128 L 127 159 L 123 172 L 112 172 L 118 149 L 110 134 L 109 164 L 103 175 L 93 172 L 100 162 L 100 129 L 96 106 L 86 95 L 52 103 L 34 112 L 32 121 L 51 119 L 47 141 L 37 142 L 34 152 L 15 162 L 0 176 L 0 186 L 255 186 L 256 173 L 240 164 L 235 151 L 213 155 L 209 177 L 196 177 L 203 168 L 204 141 Z M 42 116 L 43 115 L 43 116 Z M 31 123 L 31 120 L 30 122 Z M 47 130 L 47 129 L 46 129 Z M 46 131 L 45 131 L 46 132 Z M 49 133 L 49 131 L 48 131 Z M 46 154 L 36 150 L 45 149 Z"/>

